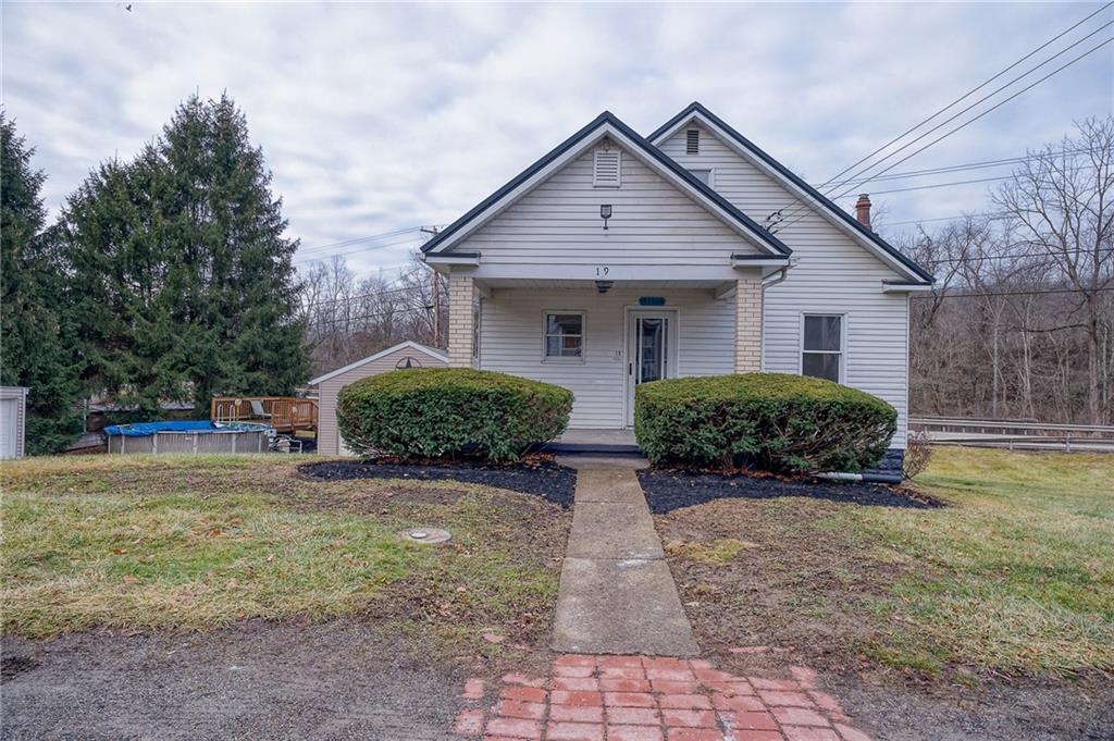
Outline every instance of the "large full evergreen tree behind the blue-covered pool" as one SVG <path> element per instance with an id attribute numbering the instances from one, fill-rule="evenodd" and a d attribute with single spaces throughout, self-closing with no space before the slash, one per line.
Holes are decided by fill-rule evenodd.
<path id="1" fill-rule="evenodd" d="M 270 184 L 227 96 L 189 98 L 134 162 L 90 175 L 65 215 L 90 380 L 148 415 L 305 380 L 297 242 Z"/>

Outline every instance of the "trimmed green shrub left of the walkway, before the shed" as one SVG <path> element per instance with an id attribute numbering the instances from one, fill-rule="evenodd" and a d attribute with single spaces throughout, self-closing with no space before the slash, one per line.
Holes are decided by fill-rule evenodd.
<path id="1" fill-rule="evenodd" d="M 516 460 L 568 425 L 573 392 L 517 376 L 418 368 L 344 387 L 336 423 L 362 458 L 438 458 L 461 451 Z"/>

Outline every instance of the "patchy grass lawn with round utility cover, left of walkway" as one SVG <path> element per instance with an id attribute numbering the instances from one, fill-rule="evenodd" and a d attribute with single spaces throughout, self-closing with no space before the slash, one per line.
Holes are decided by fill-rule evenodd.
<path id="1" fill-rule="evenodd" d="M 449 652 L 548 635 L 568 513 L 457 482 L 311 481 L 305 458 L 89 456 L 0 467 L 2 625 L 199 630 L 356 615 Z M 397 537 L 443 527 L 442 546 Z"/>

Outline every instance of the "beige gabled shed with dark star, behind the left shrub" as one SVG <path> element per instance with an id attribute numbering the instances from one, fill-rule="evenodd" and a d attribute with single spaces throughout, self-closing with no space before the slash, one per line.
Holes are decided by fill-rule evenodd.
<path id="1" fill-rule="evenodd" d="M 442 351 L 407 340 L 310 381 L 310 386 L 317 387 L 317 452 L 350 455 L 336 428 L 336 394 L 345 386 L 392 370 L 448 364 L 449 358 Z"/>

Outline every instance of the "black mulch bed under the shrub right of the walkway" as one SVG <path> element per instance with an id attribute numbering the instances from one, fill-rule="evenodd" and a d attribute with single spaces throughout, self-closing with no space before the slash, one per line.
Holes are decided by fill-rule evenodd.
<path id="1" fill-rule="evenodd" d="M 651 468 L 638 471 L 638 482 L 655 515 L 702 505 L 714 499 L 811 497 L 871 507 L 930 509 L 940 503 L 911 491 L 859 481 L 783 479 L 770 476 L 724 475 Z"/>

